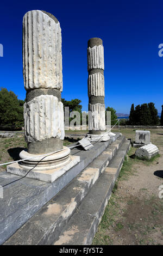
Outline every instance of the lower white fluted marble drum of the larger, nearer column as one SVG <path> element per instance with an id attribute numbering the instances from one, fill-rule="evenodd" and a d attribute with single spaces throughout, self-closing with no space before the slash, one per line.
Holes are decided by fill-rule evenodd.
<path id="1" fill-rule="evenodd" d="M 64 139 L 64 108 L 53 95 L 40 95 L 24 103 L 24 126 L 27 142 L 48 138 Z"/>

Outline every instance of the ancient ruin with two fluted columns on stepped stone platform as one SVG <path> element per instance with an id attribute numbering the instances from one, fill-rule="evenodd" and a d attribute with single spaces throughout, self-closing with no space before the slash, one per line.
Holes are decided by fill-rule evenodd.
<path id="1" fill-rule="evenodd" d="M 88 138 L 63 147 L 60 24 L 45 11 L 24 15 L 24 132 L 28 149 L 21 151 L 20 160 L 7 166 L 7 172 L 0 173 L 4 185 L 0 191 L 0 244 L 92 242 L 130 141 L 120 132 L 106 132 L 101 39 L 89 40 L 87 58 L 92 115 Z M 67 234 L 71 234 L 68 239 Z"/>

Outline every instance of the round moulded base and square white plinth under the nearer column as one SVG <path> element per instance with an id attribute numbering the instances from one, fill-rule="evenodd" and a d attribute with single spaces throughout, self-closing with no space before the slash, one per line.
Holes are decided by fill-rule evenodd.
<path id="1" fill-rule="evenodd" d="M 33 159 L 9 164 L 7 166 L 7 172 L 46 182 L 53 182 L 80 161 L 79 156 L 70 155 L 70 149 L 67 147 L 64 147 L 64 150 L 58 153 L 48 156 L 32 155 L 25 150 L 20 153 L 21 159 L 32 156 L 34 156 Z"/>

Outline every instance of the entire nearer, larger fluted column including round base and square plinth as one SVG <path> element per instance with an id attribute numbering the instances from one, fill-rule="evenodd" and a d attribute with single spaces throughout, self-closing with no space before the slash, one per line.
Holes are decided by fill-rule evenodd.
<path id="1" fill-rule="evenodd" d="M 80 157 L 71 156 L 70 148 L 63 146 L 61 28 L 59 21 L 46 11 L 28 11 L 23 17 L 23 77 L 28 149 L 21 151 L 21 161 L 10 164 L 7 172 L 53 182 L 76 165 Z M 63 178 L 61 188 L 67 180 Z"/>

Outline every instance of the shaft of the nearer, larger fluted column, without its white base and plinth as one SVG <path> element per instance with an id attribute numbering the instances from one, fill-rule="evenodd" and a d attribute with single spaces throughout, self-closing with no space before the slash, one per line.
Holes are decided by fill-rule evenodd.
<path id="1" fill-rule="evenodd" d="M 23 77 L 27 90 L 24 130 L 28 153 L 62 149 L 65 133 L 61 28 L 59 21 L 45 11 L 28 11 L 23 17 Z"/>

